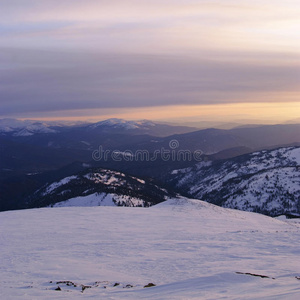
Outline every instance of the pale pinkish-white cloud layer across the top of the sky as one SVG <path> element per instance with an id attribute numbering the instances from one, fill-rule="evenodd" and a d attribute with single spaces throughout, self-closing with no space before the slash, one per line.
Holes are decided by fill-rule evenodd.
<path id="1" fill-rule="evenodd" d="M 2 45 L 11 46 L 297 53 L 299 13 L 292 0 L 11 0 L 1 7 L 0 24 L 7 28 Z"/>

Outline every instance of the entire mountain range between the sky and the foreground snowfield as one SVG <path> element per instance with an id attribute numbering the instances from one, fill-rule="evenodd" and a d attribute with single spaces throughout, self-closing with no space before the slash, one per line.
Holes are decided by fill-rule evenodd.
<path id="1" fill-rule="evenodd" d="M 300 124 L 197 130 L 148 120 L 72 124 L 0 120 L 0 210 L 56 205 L 74 198 L 71 202 L 78 203 L 78 197 L 86 202 L 82 197 L 87 196 L 90 203 L 123 205 L 118 199 L 131 195 L 131 202 L 124 205 L 149 206 L 175 190 L 225 207 L 269 215 L 299 213 L 299 162 L 288 155 L 299 145 Z M 109 153 L 105 159 L 95 159 L 100 147 Z M 169 151 L 168 159 L 162 150 Z M 180 156 L 182 151 L 190 156 Z M 118 159 L 112 155 L 116 153 Z M 87 172 L 119 172 L 128 182 L 139 178 L 153 186 L 144 189 L 135 182 L 136 189 L 126 184 L 126 191 L 121 186 L 113 191 L 103 182 L 88 180 Z M 43 194 L 43 188 L 69 177 L 67 184 Z M 84 185 L 91 187 L 89 192 Z M 155 185 L 158 190 L 147 198 Z M 164 196 L 159 192 L 163 189 L 167 190 Z"/>

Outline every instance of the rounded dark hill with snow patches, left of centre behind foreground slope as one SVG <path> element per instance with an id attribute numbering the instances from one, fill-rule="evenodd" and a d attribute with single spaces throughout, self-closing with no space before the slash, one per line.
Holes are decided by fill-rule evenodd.
<path id="1" fill-rule="evenodd" d="M 40 188 L 28 198 L 27 207 L 142 206 L 175 196 L 152 180 L 143 180 L 108 169 L 87 169 Z"/>

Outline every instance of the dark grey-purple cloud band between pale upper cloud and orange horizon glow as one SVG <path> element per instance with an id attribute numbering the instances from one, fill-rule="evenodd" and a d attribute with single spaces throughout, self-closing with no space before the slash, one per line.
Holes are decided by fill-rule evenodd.
<path id="1" fill-rule="evenodd" d="M 0 61 L 6 62 L 0 75 L 4 114 L 276 102 L 282 101 L 282 93 L 299 92 L 299 66 L 255 57 L 252 62 L 251 57 L 235 62 L 212 55 L 208 59 L 2 49 Z"/>

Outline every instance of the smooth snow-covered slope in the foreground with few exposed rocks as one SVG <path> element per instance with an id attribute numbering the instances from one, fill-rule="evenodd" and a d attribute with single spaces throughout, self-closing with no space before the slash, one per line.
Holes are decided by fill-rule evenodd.
<path id="1" fill-rule="evenodd" d="M 299 299 L 299 226 L 184 198 L 1 212 L 0 298 Z"/>

